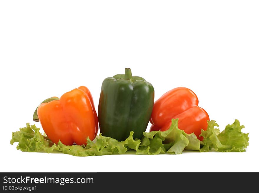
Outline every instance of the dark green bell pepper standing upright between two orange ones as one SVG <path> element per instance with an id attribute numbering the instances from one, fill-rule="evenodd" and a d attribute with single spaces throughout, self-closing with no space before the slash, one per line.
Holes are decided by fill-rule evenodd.
<path id="1" fill-rule="evenodd" d="M 129 137 L 141 139 L 152 113 L 154 88 L 142 77 L 125 74 L 104 79 L 98 106 L 100 132 L 118 141 Z"/>

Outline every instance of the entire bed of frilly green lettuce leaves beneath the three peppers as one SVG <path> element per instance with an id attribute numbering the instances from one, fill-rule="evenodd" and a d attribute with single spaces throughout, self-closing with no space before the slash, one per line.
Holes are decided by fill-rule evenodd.
<path id="1" fill-rule="evenodd" d="M 133 132 L 129 137 L 119 142 L 116 139 L 99 134 L 93 141 L 87 138 L 87 145 L 64 145 L 62 142 L 53 144 L 52 141 L 39 132 L 35 125 L 26 124 L 26 127 L 12 133 L 11 144 L 18 142 L 17 149 L 23 152 L 64 153 L 73 156 L 100 156 L 125 154 L 129 150 L 137 155 L 148 154 L 181 154 L 183 150 L 200 150 L 207 152 L 215 149 L 220 152 L 243 152 L 248 146 L 248 134 L 241 132 L 238 120 L 220 133 L 215 121 L 208 122 L 206 131 L 202 130 L 200 142 L 194 133 L 186 134 L 178 128 L 178 119 L 172 119 L 172 125 L 167 131 L 143 132 L 142 139 L 133 139 Z M 202 147 L 200 149 L 200 146 Z"/>

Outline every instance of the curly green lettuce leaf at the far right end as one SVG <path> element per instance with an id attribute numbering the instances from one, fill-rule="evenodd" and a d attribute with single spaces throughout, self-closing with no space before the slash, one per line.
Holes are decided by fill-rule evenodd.
<path id="1" fill-rule="evenodd" d="M 241 132 L 245 128 L 240 125 L 236 119 L 233 124 L 228 124 L 225 129 L 220 132 L 218 124 L 215 121 L 208 121 L 208 128 L 206 131 L 201 130 L 200 136 L 204 137 L 200 149 L 201 152 L 208 152 L 210 149 L 215 149 L 218 152 L 245 152 L 245 148 L 249 145 L 248 133 Z"/>

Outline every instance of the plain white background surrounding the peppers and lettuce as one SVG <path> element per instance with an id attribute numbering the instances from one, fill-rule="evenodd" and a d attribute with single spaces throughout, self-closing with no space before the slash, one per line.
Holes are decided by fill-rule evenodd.
<path id="1" fill-rule="evenodd" d="M 236 0 L 1 1 L 0 171 L 259 172 L 258 10 Z M 46 98 L 84 85 L 97 108 L 103 79 L 125 67 L 154 86 L 155 100 L 192 89 L 220 130 L 239 119 L 247 151 L 74 157 L 10 144 Z"/>

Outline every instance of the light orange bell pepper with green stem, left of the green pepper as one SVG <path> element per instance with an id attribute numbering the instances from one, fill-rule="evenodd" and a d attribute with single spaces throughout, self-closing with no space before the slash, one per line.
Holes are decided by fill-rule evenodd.
<path id="1" fill-rule="evenodd" d="M 65 145 L 87 144 L 98 132 L 98 118 L 89 89 L 80 86 L 60 99 L 51 97 L 35 110 L 33 120 L 40 122 L 49 139 Z"/>

